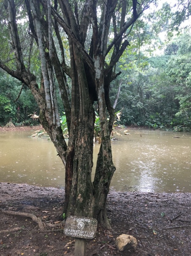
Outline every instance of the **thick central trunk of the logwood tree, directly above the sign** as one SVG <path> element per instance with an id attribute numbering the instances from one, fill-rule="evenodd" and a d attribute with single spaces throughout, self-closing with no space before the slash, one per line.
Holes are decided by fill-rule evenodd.
<path id="1" fill-rule="evenodd" d="M 82 65 L 82 56 L 70 43 L 71 75 L 71 129 L 66 160 L 65 207 L 66 216 L 92 217 L 95 199 L 91 181 L 93 166 L 93 138 L 95 113 L 90 100 L 88 83 Z"/>

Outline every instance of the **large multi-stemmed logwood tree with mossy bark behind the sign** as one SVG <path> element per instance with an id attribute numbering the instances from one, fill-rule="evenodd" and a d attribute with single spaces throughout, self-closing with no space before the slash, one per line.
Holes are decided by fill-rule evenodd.
<path id="1" fill-rule="evenodd" d="M 109 88 L 120 74 L 114 72 L 114 66 L 129 45 L 126 38 L 150 2 L 55 0 L 53 6 L 50 0 L 1 3 L 1 31 L 9 41 L 1 39 L 0 67 L 29 87 L 40 108 L 40 122 L 65 165 L 66 216 L 95 217 L 110 226 L 106 199 L 115 166 L 110 141 L 114 109 Z M 28 34 L 22 29 L 27 24 Z M 66 40 L 70 65 L 65 56 Z M 34 68 L 37 52 L 40 79 Z M 71 91 L 67 77 L 71 78 Z M 60 127 L 55 78 L 67 119 L 68 145 Z M 92 183 L 94 102 L 99 109 L 102 143 Z"/>

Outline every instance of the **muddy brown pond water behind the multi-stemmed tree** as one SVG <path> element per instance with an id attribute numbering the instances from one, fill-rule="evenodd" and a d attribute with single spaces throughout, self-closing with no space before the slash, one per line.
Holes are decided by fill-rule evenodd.
<path id="1" fill-rule="evenodd" d="M 0 182 L 63 187 L 65 168 L 53 143 L 34 131 L 0 131 Z M 191 133 L 129 130 L 112 141 L 116 191 L 191 192 Z M 180 138 L 173 138 L 180 137 Z M 94 163 L 99 151 L 94 145 Z M 92 179 L 95 167 L 92 172 Z"/>

